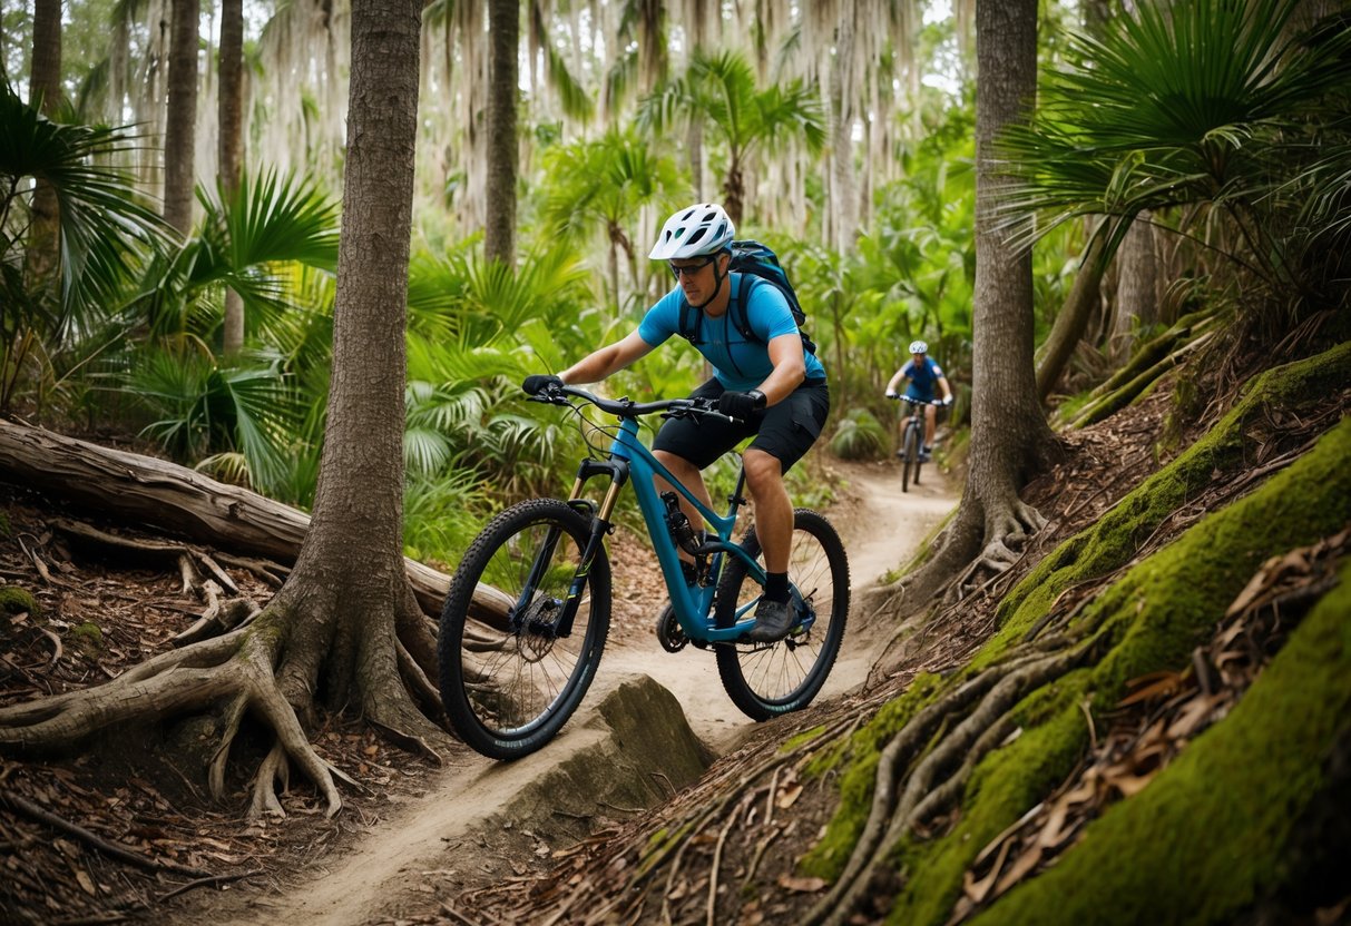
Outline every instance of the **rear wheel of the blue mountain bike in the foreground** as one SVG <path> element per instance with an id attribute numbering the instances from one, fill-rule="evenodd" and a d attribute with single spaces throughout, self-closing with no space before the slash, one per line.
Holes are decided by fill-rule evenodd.
<path id="1" fill-rule="evenodd" d="M 754 528 L 742 547 L 759 556 Z M 831 522 L 816 512 L 793 512 L 793 545 L 788 578 L 801 593 L 802 613 L 811 617 L 807 629 L 794 628 L 774 644 L 720 644 L 717 674 L 723 687 L 742 713 L 765 721 L 800 710 L 825 684 L 844 638 L 848 617 L 848 560 L 844 544 Z M 747 582 L 746 564 L 730 557 L 717 586 L 717 626 L 732 626 L 738 613 L 759 599 L 761 586 Z"/>

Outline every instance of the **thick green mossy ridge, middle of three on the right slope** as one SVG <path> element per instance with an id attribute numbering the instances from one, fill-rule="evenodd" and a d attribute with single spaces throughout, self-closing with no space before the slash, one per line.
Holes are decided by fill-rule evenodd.
<path id="1" fill-rule="evenodd" d="M 1228 603 L 1266 559 L 1335 533 L 1346 524 L 1351 517 L 1348 458 L 1351 420 L 1324 435 L 1313 451 L 1259 491 L 1202 518 L 1175 543 L 1135 566 L 1085 609 L 1079 620 L 1102 622 L 1100 645 L 1106 655 L 1092 668 L 1029 692 L 1017 706 L 1023 736 L 981 764 L 963 799 L 958 829 L 932 844 L 902 848 L 907 887 L 896 900 L 896 922 L 944 922 L 975 854 L 1054 791 L 1078 761 L 1088 745 L 1078 705 L 1090 692 L 1094 710 L 1111 709 L 1129 679 L 1186 667 L 1192 651 L 1210 636 Z M 1346 659 L 1351 660 L 1351 653 Z M 1351 694 L 1344 698 L 1351 699 Z M 1300 715 L 1289 714 L 1286 719 Z M 1154 840 L 1166 842 L 1166 833 L 1161 829 Z M 1152 848 L 1155 842 L 1146 840 L 1140 845 Z M 1146 883 L 1133 890 L 1147 892 Z M 1059 918 L 1054 907 L 1039 914 L 1048 921 Z M 1102 922 L 1082 910 L 1079 915 L 1085 918 L 1059 922 Z M 1124 917 L 1120 922 L 1143 919 L 1148 917 Z"/>

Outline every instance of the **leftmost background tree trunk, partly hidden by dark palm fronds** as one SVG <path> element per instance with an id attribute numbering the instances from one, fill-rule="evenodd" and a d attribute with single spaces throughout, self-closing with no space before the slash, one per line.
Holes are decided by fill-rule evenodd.
<path id="1" fill-rule="evenodd" d="M 32 11 L 32 69 L 28 103 L 54 119 L 61 107 L 61 0 L 36 0 Z M 55 278 L 61 255 L 57 192 L 38 178 L 32 196 L 32 227 L 24 248 L 24 277 L 32 289 Z"/>

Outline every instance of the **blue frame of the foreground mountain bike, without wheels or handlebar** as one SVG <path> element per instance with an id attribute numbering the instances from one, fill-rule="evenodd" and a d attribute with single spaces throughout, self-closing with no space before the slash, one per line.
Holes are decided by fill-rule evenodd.
<path id="1" fill-rule="evenodd" d="M 680 621 L 685 636 L 703 643 L 731 643 L 754 624 L 753 618 L 743 616 L 754 607 L 755 602 L 750 602 L 740 609 L 738 621 L 732 626 L 717 628 L 713 626 L 711 620 L 713 593 L 717 586 L 716 576 L 721 574 L 723 553 L 731 553 L 746 563 L 750 576 L 757 583 L 765 584 L 765 568 L 740 544 L 732 540 L 732 529 L 736 526 L 736 512 L 744 503 L 744 498 L 742 498 L 742 489 L 746 481 L 744 472 L 736 481 L 736 490 L 730 499 L 727 514 L 720 516 L 696 498 L 642 443 L 636 418 L 620 418 L 619 433 L 609 447 L 609 459 L 582 462 L 577 470 L 577 482 L 569 497 L 569 505 L 574 508 L 590 508 L 590 503 L 581 498 L 581 493 L 585 482 L 594 475 L 608 475 L 611 485 L 605 493 L 605 498 L 601 501 L 600 510 L 592 512 L 594 526 L 592 528 L 590 543 L 588 543 L 586 551 L 582 555 L 582 568 L 578 570 L 578 576 L 574 580 L 574 591 L 570 593 L 570 598 L 581 594 L 582 580 L 590 562 L 600 549 L 601 537 L 609 532 L 609 518 L 615 509 L 615 501 L 619 498 L 619 490 L 623 489 L 626 482 L 631 481 L 634 491 L 638 493 L 638 508 L 643 513 L 643 521 L 647 524 L 647 532 L 653 539 L 657 562 L 661 564 L 662 576 L 666 579 L 666 591 L 670 594 L 676 620 Z M 707 540 L 703 547 L 704 552 L 713 556 L 711 574 L 715 576 L 715 582 L 711 584 L 701 584 L 694 589 L 685 584 L 680 555 L 676 552 L 676 543 L 666 528 L 666 509 L 653 482 L 654 475 L 665 479 L 680 495 L 686 498 L 717 536 L 716 540 Z M 569 609 L 569 617 L 573 610 L 576 609 Z"/>

